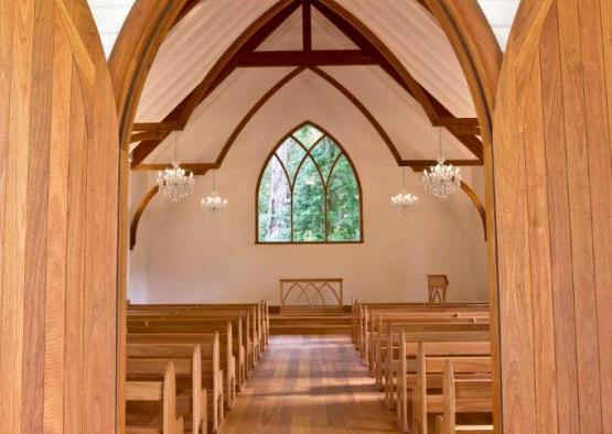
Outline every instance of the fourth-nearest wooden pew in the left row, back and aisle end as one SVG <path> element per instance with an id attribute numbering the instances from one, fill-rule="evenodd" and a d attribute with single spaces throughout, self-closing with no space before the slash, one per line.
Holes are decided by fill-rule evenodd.
<path id="1" fill-rule="evenodd" d="M 128 335 L 167 336 L 214 333 L 217 333 L 219 336 L 221 359 L 225 366 L 225 400 L 227 409 L 230 409 L 236 401 L 236 372 L 237 367 L 239 368 L 239 350 L 234 351 L 236 343 L 233 337 L 232 322 L 210 321 L 200 322 L 197 325 L 128 325 Z"/>

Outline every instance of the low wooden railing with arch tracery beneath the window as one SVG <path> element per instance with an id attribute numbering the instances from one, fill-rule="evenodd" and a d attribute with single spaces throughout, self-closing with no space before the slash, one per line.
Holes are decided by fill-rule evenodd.
<path id="1" fill-rule="evenodd" d="M 280 312 L 330 312 L 343 308 L 344 279 L 280 279 Z"/>

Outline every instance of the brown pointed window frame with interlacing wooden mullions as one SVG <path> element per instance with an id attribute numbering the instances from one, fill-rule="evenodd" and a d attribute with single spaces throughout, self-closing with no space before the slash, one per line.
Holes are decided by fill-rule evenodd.
<path id="1" fill-rule="evenodd" d="M 300 130 L 301 128 L 305 127 L 305 126 L 312 126 L 315 129 L 318 129 L 319 131 L 321 131 L 323 133 L 323 135 L 321 135 L 311 147 L 310 149 L 307 149 L 307 147 L 303 145 L 303 143 L 293 135 L 293 133 L 298 130 Z M 300 162 L 297 171 L 296 171 L 296 180 L 298 174 L 300 173 L 300 170 L 302 167 L 302 165 L 304 164 L 304 162 L 308 160 L 308 158 L 310 156 L 310 159 L 314 162 L 314 165 L 316 167 L 316 171 L 319 173 L 319 176 L 321 178 L 322 182 L 322 187 L 323 187 L 323 192 L 324 192 L 324 229 L 325 229 L 325 240 L 323 241 L 296 241 L 293 239 L 293 220 L 294 220 L 294 216 L 293 216 L 293 187 L 296 183 L 291 183 L 291 180 L 289 177 L 289 173 L 287 171 L 287 167 L 284 166 L 284 164 L 282 164 L 282 162 L 280 160 L 279 163 L 282 167 L 282 171 L 284 172 L 284 176 L 287 177 L 287 182 L 289 183 L 290 189 L 291 189 L 291 210 L 290 210 L 290 218 L 291 218 L 291 240 L 289 241 L 260 241 L 259 240 L 259 191 L 261 188 L 261 181 L 264 180 L 264 175 L 266 173 L 266 169 L 268 167 L 268 164 L 270 163 L 270 160 L 275 158 L 276 152 L 278 151 L 278 149 L 280 147 L 282 147 L 282 144 L 284 143 L 284 141 L 289 138 L 292 138 L 296 142 L 298 142 L 300 144 L 300 147 L 302 148 L 302 150 L 305 152 L 304 156 L 302 158 L 302 161 Z M 323 175 L 321 173 L 321 170 L 319 167 L 319 164 L 316 164 L 316 160 L 312 156 L 311 152 L 312 150 L 324 139 L 328 138 L 330 139 L 340 150 L 340 154 L 336 156 L 333 165 L 331 166 L 330 173 L 328 175 L 328 182 L 324 182 L 323 180 Z M 329 240 L 329 193 L 328 193 L 328 188 L 329 188 L 329 181 L 332 177 L 332 174 L 334 173 L 334 169 L 335 165 L 337 164 L 337 162 L 340 161 L 340 158 L 344 155 L 344 158 L 346 159 L 346 161 L 348 162 L 348 164 L 351 165 L 351 170 L 353 171 L 353 174 L 355 176 L 355 182 L 357 184 L 357 192 L 359 195 L 359 239 L 357 240 L 346 240 L 346 241 L 334 241 L 334 240 Z M 334 137 L 332 135 L 328 130 L 325 130 L 324 128 L 322 128 L 321 126 L 316 124 L 315 122 L 312 122 L 310 120 L 307 120 L 304 122 L 301 122 L 300 124 L 293 127 L 290 129 L 290 131 L 284 134 L 277 143 L 276 145 L 272 148 L 272 150 L 268 153 L 268 155 L 266 156 L 266 160 L 264 161 L 264 164 L 261 166 L 261 170 L 259 171 L 259 177 L 257 180 L 257 187 L 255 189 L 255 243 L 256 245 L 359 245 L 364 242 L 364 211 L 363 211 L 363 206 L 364 206 L 364 195 L 363 195 L 363 189 L 362 189 L 362 182 L 359 180 L 359 174 L 357 173 L 357 169 L 355 167 L 355 164 L 353 163 L 353 160 L 351 159 L 351 155 L 348 154 L 348 152 L 346 152 L 346 149 L 344 149 L 344 147 L 342 145 L 342 143 Z"/>

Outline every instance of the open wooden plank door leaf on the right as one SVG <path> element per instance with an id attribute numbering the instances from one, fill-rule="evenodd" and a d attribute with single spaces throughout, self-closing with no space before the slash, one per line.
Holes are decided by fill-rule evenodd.
<path id="1" fill-rule="evenodd" d="M 497 95 L 504 433 L 610 433 L 612 2 L 524 0 Z"/>

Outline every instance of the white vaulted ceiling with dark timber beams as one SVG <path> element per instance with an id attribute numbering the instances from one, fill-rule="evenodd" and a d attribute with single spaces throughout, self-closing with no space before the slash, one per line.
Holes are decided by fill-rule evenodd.
<path id="1" fill-rule="evenodd" d="M 219 167 L 257 111 L 300 83 L 358 107 L 400 165 L 438 156 L 436 127 L 447 158 L 482 164 L 462 69 L 420 1 L 204 0 L 181 17 L 144 85 L 132 169 L 168 164 L 178 130 L 183 163 Z"/>

